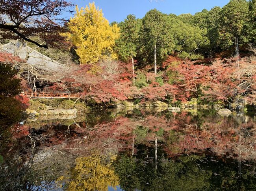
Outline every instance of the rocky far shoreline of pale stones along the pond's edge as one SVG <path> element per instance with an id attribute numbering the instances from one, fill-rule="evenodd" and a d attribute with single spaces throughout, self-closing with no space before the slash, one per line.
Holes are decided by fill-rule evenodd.
<path id="1" fill-rule="evenodd" d="M 179 104 L 168 104 L 167 102 L 162 101 L 146 101 L 135 103 L 134 101 L 117 101 L 108 104 L 104 104 L 103 106 L 100 104 L 94 105 L 85 105 L 84 103 L 76 103 L 72 100 L 57 100 L 57 99 L 37 99 L 30 101 L 30 107 L 26 110 L 26 114 L 28 118 L 37 118 L 38 116 L 45 116 L 43 118 L 56 118 L 54 116 L 58 116 L 58 118 L 73 118 L 76 117 L 77 114 L 88 113 L 94 109 L 102 108 L 102 107 L 114 107 L 117 109 L 154 109 L 156 111 L 172 111 L 172 112 L 180 112 L 182 110 L 188 109 L 214 109 L 219 113 L 219 115 L 228 116 L 232 113 L 232 111 L 237 111 L 239 113 L 244 113 L 249 111 L 256 111 L 256 103 L 252 103 L 251 105 L 247 104 L 246 100 L 237 96 L 236 99 L 233 100 L 232 103 L 224 104 L 223 102 L 214 102 L 210 104 L 201 104 L 198 103 L 196 99 L 192 99 L 189 102 Z M 227 109 L 228 108 L 228 109 Z M 72 118 L 72 117 L 71 117 Z"/>

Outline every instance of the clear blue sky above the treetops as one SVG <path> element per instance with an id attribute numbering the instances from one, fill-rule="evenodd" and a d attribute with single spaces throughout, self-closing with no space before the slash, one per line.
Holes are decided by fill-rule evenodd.
<path id="1" fill-rule="evenodd" d="M 71 0 L 79 7 L 85 7 L 93 0 Z M 202 9 L 210 10 L 212 7 L 223 7 L 229 0 L 94 0 L 95 5 L 102 9 L 109 22 L 121 22 L 129 14 L 137 18 L 143 16 L 151 9 L 158 9 L 162 13 L 195 14 Z"/>

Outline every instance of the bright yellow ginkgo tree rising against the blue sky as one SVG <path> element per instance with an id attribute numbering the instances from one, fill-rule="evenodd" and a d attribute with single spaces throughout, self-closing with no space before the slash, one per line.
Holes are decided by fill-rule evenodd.
<path id="1" fill-rule="evenodd" d="M 76 14 L 70 18 L 69 29 L 71 33 L 68 36 L 77 47 L 76 53 L 80 56 L 81 64 L 94 64 L 106 56 L 113 59 L 117 57 L 112 48 L 115 39 L 119 38 L 120 29 L 117 24 L 112 27 L 109 25 L 102 9 L 96 8 L 94 2 L 81 9 L 76 6 Z"/>

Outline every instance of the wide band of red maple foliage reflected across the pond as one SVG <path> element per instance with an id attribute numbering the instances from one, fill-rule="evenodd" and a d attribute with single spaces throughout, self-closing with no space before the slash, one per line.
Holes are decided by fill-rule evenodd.
<path id="1" fill-rule="evenodd" d="M 256 124 L 252 118 L 246 116 L 234 116 L 223 118 L 221 116 L 205 116 L 200 122 L 198 116 L 187 115 L 182 112 L 170 116 L 152 115 L 145 113 L 143 116 L 128 118 L 117 116 L 108 122 L 98 122 L 89 126 L 85 122 L 70 125 L 70 132 L 48 127 L 44 132 L 50 135 L 44 146 L 65 143 L 67 148 L 85 147 L 90 149 L 104 150 L 111 147 L 118 151 L 132 151 L 135 139 L 134 153 L 136 153 L 136 136 L 134 129 L 138 126 L 147 128 L 147 136 L 143 144 L 154 147 L 156 138 L 159 145 L 169 156 L 203 153 L 210 150 L 217 156 L 229 155 L 229 157 L 240 159 L 254 158 Z M 26 135 L 26 126 L 19 129 L 21 134 Z M 157 132 L 163 129 L 164 135 L 159 136 Z M 26 130 L 26 131 L 25 131 Z M 16 137 L 17 137 L 16 135 Z M 169 142 L 169 136 L 172 141 Z M 111 144 L 109 144 L 111 140 Z M 132 153 L 132 152 L 131 152 Z"/>

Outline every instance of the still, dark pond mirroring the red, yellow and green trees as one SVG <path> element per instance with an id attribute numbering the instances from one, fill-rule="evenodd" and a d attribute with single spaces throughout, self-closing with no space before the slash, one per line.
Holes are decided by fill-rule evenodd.
<path id="1" fill-rule="evenodd" d="M 2 146 L 14 190 L 256 190 L 254 113 L 106 109 L 17 129 Z"/>

